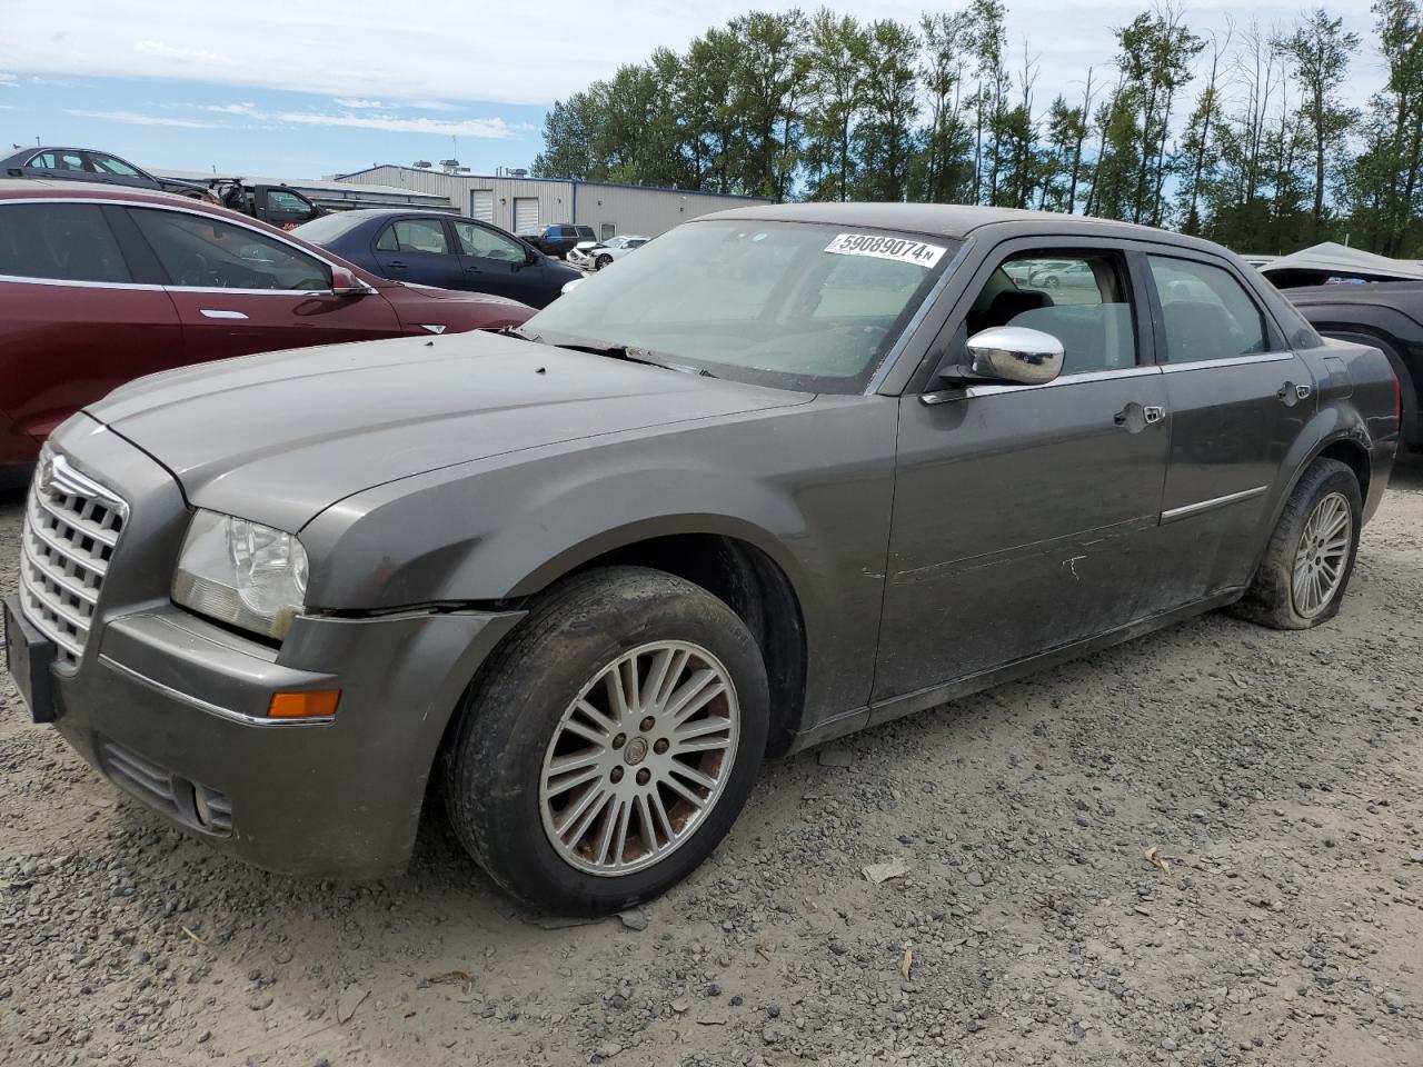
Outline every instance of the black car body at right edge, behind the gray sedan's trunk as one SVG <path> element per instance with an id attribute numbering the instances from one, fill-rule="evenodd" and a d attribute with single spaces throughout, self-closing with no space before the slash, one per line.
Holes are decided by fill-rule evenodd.
<path id="1" fill-rule="evenodd" d="M 1285 289 L 1301 314 L 1326 337 L 1372 344 L 1399 380 L 1403 444 L 1423 448 L 1423 280 L 1318 285 Z"/>

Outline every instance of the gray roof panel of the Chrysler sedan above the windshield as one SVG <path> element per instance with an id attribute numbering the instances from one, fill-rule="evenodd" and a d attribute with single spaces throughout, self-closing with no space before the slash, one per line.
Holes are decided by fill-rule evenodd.
<path id="1" fill-rule="evenodd" d="M 867 229 L 895 229 L 915 233 L 935 233 L 943 238 L 966 238 L 983 226 L 1030 223 L 1053 233 L 1081 236 L 1138 238 L 1168 240 L 1191 248 L 1215 248 L 1210 242 L 1187 238 L 1153 226 L 1113 222 L 1086 215 L 1066 215 L 1050 211 L 1020 211 L 1017 208 L 976 208 L 966 203 L 774 203 L 761 208 L 736 208 L 706 219 L 760 219 L 764 222 L 824 222 L 835 226 L 864 226 Z"/>

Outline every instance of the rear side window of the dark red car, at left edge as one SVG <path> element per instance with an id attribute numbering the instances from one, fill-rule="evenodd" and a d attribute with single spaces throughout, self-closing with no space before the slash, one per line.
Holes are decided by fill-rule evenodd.
<path id="1" fill-rule="evenodd" d="M 0 206 L 0 275 L 61 282 L 131 282 L 97 203 Z"/>

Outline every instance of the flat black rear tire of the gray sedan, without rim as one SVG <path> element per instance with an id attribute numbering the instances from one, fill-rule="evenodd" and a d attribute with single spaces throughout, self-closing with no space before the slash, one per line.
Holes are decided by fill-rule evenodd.
<path id="1" fill-rule="evenodd" d="M 1292 585 L 1295 553 L 1299 551 L 1305 525 L 1315 506 L 1329 494 L 1340 494 L 1349 506 L 1350 538 L 1343 578 L 1339 588 L 1315 615 L 1302 615 L 1295 603 Z M 1232 612 L 1242 619 L 1276 630 L 1308 630 L 1339 613 L 1339 605 L 1353 575 L 1353 561 L 1359 552 L 1359 531 L 1363 525 L 1363 497 L 1359 478 L 1338 460 L 1315 460 L 1301 475 L 1279 515 L 1275 532 L 1265 548 L 1259 569 L 1249 589 Z"/>

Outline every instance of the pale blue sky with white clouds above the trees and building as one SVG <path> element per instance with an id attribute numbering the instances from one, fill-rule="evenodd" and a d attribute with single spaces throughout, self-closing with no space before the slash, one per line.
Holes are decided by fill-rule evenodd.
<path id="1" fill-rule="evenodd" d="M 1148 0 L 1006 0 L 1012 53 L 1039 64 L 1037 100 L 1076 100 L 1087 67 L 1111 77 L 1111 30 Z M 942 4 L 831 3 L 861 20 L 916 21 Z M 458 158 L 475 172 L 528 166 L 544 114 L 653 48 L 683 50 L 751 7 L 721 0 L 0 0 L 0 154 L 11 144 L 102 148 L 157 171 L 279 178 Z M 817 4 L 801 4 L 813 10 Z M 1302 3 L 1185 4 L 1197 31 L 1227 18 L 1288 21 Z M 1328 10 L 1370 37 L 1369 0 Z M 1013 64 L 1020 65 L 1020 60 Z M 1349 94 L 1382 81 L 1366 48 Z"/>

